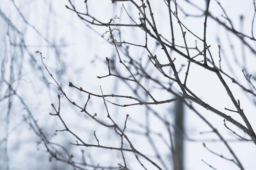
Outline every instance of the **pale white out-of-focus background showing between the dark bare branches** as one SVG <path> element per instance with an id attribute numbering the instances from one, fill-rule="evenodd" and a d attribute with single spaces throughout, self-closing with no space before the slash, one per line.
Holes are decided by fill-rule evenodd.
<path id="1" fill-rule="evenodd" d="M 154 1 L 154 0 L 153 0 Z M 163 7 L 162 0 L 152 1 L 152 7 L 155 11 L 157 19 L 158 30 L 166 35 L 170 39 L 171 34 L 169 32 L 169 17 L 167 17 L 167 8 L 162 9 Z M 196 1 L 196 0 L 195 0 Z M 113 53 L 113 47 L 110 46 L 106 40 L 98 36 L 92 30 L 85 26 L 85 24 L 71 11 L 67 10 L 64 5 L 68 4 L 68 1 L 65 0 L 25 0 L 25 1 L 15 1 L 20 11 L 23 13 L 24 17 L 35 26 L 36 29 L 39 30 L 42 36 L 47 37 L 51 42 L 54 42 L 56 45 L 66 44 L 65 47 L 59 47 L 59 55 L 65 63 L 65 72 L 62 76 L 56 76 L 60 83 L 62 83 L 63 88 L 69 93 L 76 102 L 84 103 L 87 100 L 86 94 L 80 94 L 78 91 L 74 89 L 70 89 L 68 87 L 68 82 L 72 82 L 74 85 L 81 86 L 83 89 L 88 91 L 92 91 L 94 93 L 100 93 L 99 85 L 101 85 L 104 93 L 113 93 L 114 82 L 113 78 L 106 78 L 102 80 L 98 80 L 96 76 L 107 74 L 108 70 L 105 65 L 105 57 L 111 57 Z M 183 0 L 178 0 L 178 3 L 182 4 Z M 80 11 L 85 10 L 85 5 L 82 3 L 82 0 L 76 1 L 77 8 Z M 203 7 L 205 4 L 204 0 L 198 0 L 198 6 Z M 111 17 L 114 15 L 119 15 L 119 8 L 115 12 L 113 12 L 113 4 L 110 0 L 88 0 L 89 11 L 95 15 L 98 19 L 102 21 L 109 21 Z M 251 35 L 251 20 L 253 17 L 253 2 L 252 0 L 240 1 L 240 0 L 222 0 L 221 4 L 226 10 L 227 14 L 231 18 L 234 23 L 234 26 L 237 30 L 239 30 L 239 16 L 244 15 L 244 33 Z M 125 7 L 131 10 L 131 14 L 133 17 L 138 18 L 138 12 L 133 9 L 127 2 L 124 3 Z M 49 8 L 51 7 L 51 8 Z M 120 6 L 118 6 L 120 7 Z M 51 48 L 45 48 L 42 46 L 47 46 L 47 43 L 39 36 L 31 27 L 26 27 L 24 21 L 20 17 L 17 10 L 14 8 L 13 4 L 9 0 L 1 0 L 0 1 L 0 9 L 5 13 L 7 17 L 11 19 L 15 26 L 20 29 L 21 32 L 24 33 L 24 38 L 27 46 L 31 53 L 35 56 L 37 62 L 40 63 L 39 55 L 35 55 L 35 51 L 41 51 L 43 56 L 45 56 L 45 63 L 47 67 L 52 70 L 53 74 L 56 74 L 56 71 L 63 68 L 58 64 L 58 61 L 55 57 L 55 53 Z M 188 13 L 191 14 L 199 14 L 194 8 L 186 6 L 185 9 Z M 221 11 L 217 6 L 217 3 L 214 0 L 211 0 L 210 4 L 210 12 L 214 13 L 216 16 L 221 18 Z M 118 16 L 119 17 L 119 16 Z M 200 37 L 203 36 L 203 19 L 200 18 L 186 18 L 180 17 L 181 21 L 185 23 L 194 33 L 198 34 Z M 223 19 L 223 18 L 222 18 Z M 123 14 L 123 18 L 120 19 L 122 22 L 131 22 L 128 20 L 127 16 Z M 117 20 L 118 22 L 118 20 Z M 240 80 L 243 85 L 246 85 L 245 78 L 242 75 L 241 69 L 236 67 L 234 59 L 232 57 L 232 53 L 229 49 L 230 42 L 226 38 L 225 30 L 218 26 L 215 21 L 208 18 L 207 24 L 207 41 L 208 44 L 211 45 L 211 51 L 214 54 L 215 61 L 218 61 L 218 47 L 216 43 L 216 36 L 218 35 L 222 41 L 222 49 L 225 50 L 227 54 L 227 58 L 230 62 L 230 65 L 235 68 L 238 80 Z M 0 18 L 0 34 L 1 41 L 6 39 L 6 31 L 8 27 L 6 23 Z M 102 34 L 107 31 L 107 27 L 93 27 L 98 33 Z M 120 28 L 121 33 L 124 34 L 124 39 L 129 42 L 144 42 L 143 36 L 140 36 L 138 29 L 134 30 L 135 34 L 131 34 L 126 28 Z M 177 28 L 177 32 L 178 32 Z M 142 32 L 141 32 L 142 33 Z M 190 41 L 190 35 L 187 35 L 187 40 L 189 46 L 195 45 L 194 38 Z M 236 55 L 240 59 L 241 62 L 241 48 L 240 41 L 238 41 L 232 34 L 230 34 L 232 43 L 236 49 Z M 171 40 L 171 39 L 170 39 Z M 178 44 L 182 44 L 181 36 L 177 36 L 176 42 Z M 33 47 L 37 46 L 37 47 Z M 198 45 L 199 46 L 199 45 Z M 152 45 L 152 48 L 154 46 Z M 200 46 L 199 46 L 200 47 Z M 255 46 L 254 46 L 255 47 Z M 7 50 L 6 50 L 7 49 Z M 256 49 L 256 47 L 255 47 Z M 3 56 L 10 57 L 13 53 L 17 55 L 19 58 L 20 51 L 15 50 L 11 47 L 5 47 L 4 44 L 0 46 L 1 52 L 1 61 Z M 6 51 L 5 51 L 6 50 Z M 140 51 L 131 51 L 131 53 L 140 56 L 142 52 Z M 157 55 L 161 55 L 161 51 L 156 51 Z M 7 54 L 7 55 L 6 55 Z M 144 53 L 146 56 L 146 53 Z M 246 49 L 246 56 L 248 56 L 247 67 L 251 71 L 250 73 L 254 74 L 255 72 L 255 58 L 253 58 L 253 54 Z M 97 57 L 97 59 L 96 59 Z M 178 64 L 187 64 L 186 60 L 180 58 L 178 60 L 177 54 L 173 53 L 172 57 L 177 58 L 177 66 Z M 222 57 L 222 68 L 226 70 L 228 73 L 227 66 L 224 64 L 224 57 Z M 94 62 L 92 62 L 94 61 Z M 102 62 L 103 61 L 103 62 Z M 21 64 L 21 63 L 20 63 Z M 24 98 L 27 104 L 30 106 L 33 115 L 38 119 L 39 125 L 42 129 L 46 130 L 46 134 L 52 136 L 56 129 L 61 129 L 62 125 L 59 122 L 59 119 L 56 119 L 50 116 L 48 113 L 53 112 L 51 108 L 51 103 L 57 103 L 57 93 L 58 91 L 53 85 L 50 85 L 50 90 L 47 89 L 44 82 L 41 80 L 40 72 L 35 71 L 35 68 L 31 66 L 30 57 L 27 53 L 24 55 L 23 60 L 23 71 L 22 71 L 22 79 L 20 81 L 20 85 L 18 88 L 18 93 Z M 7 72 L 9 71 L 9 67 L 6 66 Z M 45 72 L 46 73 L 46 72 Z M 6 74 L 6 76 L 8 73 Z M 46 74 L 47 75 L 47 74 Z M 47 75 L 48 76 L 48 75 Z M 181 77 L 183 77 L 181 75 Z M 17 78 L 17 77 L 16 77 Z M 183 77 L 184 78 L 184 77 Z M 183 79 L 182 78 L 182 79 Z M 49 82 L 53 81 L 50 77 L 47 77 Z M 256 129 L 256 116 L 255 106 L 253 103 L 248 100 L 248 98 L 241 92 L 240 88 L 237 85 L 233 85 L 232 82 L 228 79 L 225 79 L 229 86 L 231 87 L 235 97 L 241 101 L 242 108 L 244 109 L 246 116 L 250 120 L 254 129 Z M 127 87 L 124 84 L 119 83 L 120 85 L 119 94 L 127 94 L 132 92 L 127 91 Z M 228 113 L 224 110 L 224 107 L 233 108 L 233 104 L 228 98 L 225 89 L 220 84 L 216 75 L 212 73 L 208 73 L 203 68 L 198 68 L 194 64 L 191 65 L 191 69 L 188 77 L 188 87 L 197 94 L 198 97 L 203 99 L 203 101 L 209 103 L 210 105 L 217 107 L 220 111 L 224 113 L 230 114 L 232 117 L 236 118 L 236 120 L 241 120 L 234 113 Z M 3 90 L 3 89 L 0 89 Z M 154 91 L 153 93 L 156 95 L 157 99 L 167 99 L 170 96 L 166 94 L 161 94 L 159 91 Z M 17 103 L 15 103 L 17 102 Z M 14 102 L 14 106 L 11 112 L 10 119 L 10 136 L 8 140 L 8 150 L 9 150 L 9 159 L 10 159 L 10 169 L 11 170 L 44 170 L 44 169 L 54 169 L 56 166 L 54 163 L 48 162 L 48 153 L 45 152 L 45 149 L 42 144 L 38 147 L 36 142 L 39 141 L 37 136 L 32 132 L 32 130 L 28 129 L 28 125 L 26 123 L 20 123 L 22 120 L 22 115 L 25 115 L 26 112 L 19 104 L 18 101 Z M 79 113 L 79 110 L 74 109 L 69 103 L 65 102 L 65 99 L 62 99 L 62 108 L 63 108 L 63 117 L 66 119 L 67 123 L 70 125 L 72 129 L 74 129 L 78 134 L 80 134 L 84 140 L 86 141 L 94 141 L 93 131 L 96 130 L 97 135 L 102 143 L 104 142 L 105 137 L 109 140 L 105 141 L 106 145 L 115 144 L 115 137 L 113 132 L 105 131 L 104 129 L 99 128 L 95 124 L 91 123 L 89 119 L 81 119 L 82 115 Z M 102 119 L 105 119 L 106 113 L 103 105 L 102 99 L 93 98 L 90 104 L 90 111 L 92 113 L 97 113 L 98 117 L 102 116 Z M 168 114 L 171 110 L 173 104 L 163 104 L 161 106 L 156 106 L 156 109 L 162 109 L 162 112 L 168 115 L 168 119 L 172 121 L 172 114 Z M 195 104 L 195 106 L 197 106 Z M 2 108 L 3 112 L 1 115 L 6 114 L 6 102 L 0 103 L 0 108 Z M 117 108 L 109 105 L 109 108 L 118 122 L 124 122 L 125 114 L 130 114 L 130 117 L 137 120 L 143 120 L 144 118 L 144 109 L 141 107 L 129 107 L 129 108 Z M 169 109 L 169 111 L 168 111 Z M 197 106 L 198 111 L 205 116 L 220 132 L 221 135 L 225 136 L 226 139 L 235 139 L 236 136 L 233 136 L 227 129 L 223 126 L 223 119 L 215 115 L 210 111 L 206 111 L 205 109 Z M 143 114 L 142 114 L 143 113 Z M 4 116 L 0 117 L 0 124 L 4 122 Z M 161 126 L 158 125 L 158 120 L 152 118 L 152 128 L 154 130 L 161 132 Z M 237 133 L 242 134 L 240 130 L 232 126 L 230 123 L 227 123 L 229 127 L 232 127 L 236 130 Z M 2 125 L 0 126 L 3 127 Z M 18 128 L 15 128 L 18 127 Z M 128 121 L 129 127 L 129 121 Z M 132 123 L 131 123 L 132 127 Z M 15 129 L 15 130 L 13 130 Z M 50 129 L 50 130 L 49 130 Z M 132 129 L 132 128 L 131 128 Z M 186 109 L 186 131 L 188 136 L 193 139 L 212 139 L 217 138 L 216 135 L 207 134 L 200 135 L 199 132 L 206 132 L 211 130 L 201 119 L 199 119 L 193 112 Z M 3 131 L 0 131 L 0 133 Z M 84 135 L 86 133 L 86 135 Z M 4 134 L 4 133 L 3 133 Z M 4 135 L 1 135 L 1 137 Z M 131 135 L 133 137 L 133 135 Z M 134 137 L 134 143 L 137 148 L 140 149 L 142 153 L 150 153 L 152 152 L 149 149 L 149 146 L 143 140 L 136 140 Z M 248 137 L 248 136 L 246 136 Z M 66 145 L 69 145 L 69 142 L 74 142 L 74 138 L 65 134 L 58 133 L 58 136 L 52 138 L 53 141 L 63 142 Z M 156 139 L 157 140 L 157 139 Z M 95 142 L 95 141 L 94 141 Z M 116 141 L 118 144 L 118 141 Z M 213 151 L 223 154 L 227 157 L 231 157 L 231 154 L 227 151 L 224 145 L 221 142 L 218 143 L 207 143 L 207 146 L 211 148 Z M 230 142 L 230 146 L 234 149 L 236 155 L 242 162 L 242 165 L 246 170 L 254 170 L 256 167 L 255 157 L 256 157 L 256 147 L 253 142 Z M 158 145 L 161 145 L 161 142 L 158 142 Z M 70 146 L 69 146 L 70 147 Z M 39 151 L 37 151 L 39 148 Z M 80 156 L 79 149 L 75 149 L 74 153 L 77 153 L 78 159 Z M 166 148 L 159 147 L 160 151 L 165 151 Z M 2 146 L 0 147 L 0 152 L 3 151 Z M 86 148 L 88 151 L 89 148 Z M 109 163 L 111 158 L 106 158 L 107 153 L 102 151 L 97 151 L 95 154 L 98 156 L 98 152 L 101 152 L 101 157 L 99 156 L 96 161 L 99 163 Z M 118 153 L 117 153 L 118 154 Z M 169 152 L 166 151 L 166 155 Z M 129 156 L 129 155 L 128 155 Z M 186 159 L 185 159 L 185 167 L 186 170 L 206 170 L 210 169 L 207 165 L 205 165 L 201 159 L 204 159 L 207 163 L 211 164 L 217 170 L 227 170 L 232 169 L 236 170 L 237 167 L 231 162 L 225 161 L 216 155 L 210 153 L 205 148 L 203 148 L 202 142 L 186 142 Z M 113 161 L 113 160 L 112 160 Z M 167 158 L 166 158 L 167 161 Z M 43 166 L 42 166 L 43 165 Z M 107 165 L 107 164 L 105 164 Z M 170 166 L 170 164 L 168 164 Z M 67 170 L 71 169 L 66 164 L 62 165 L 58 163 L 58 169 L 62 169 L 62 167 L 66 167 Z M 136 164 L 133 165 L 134 169 L 136 169 Z M 149 169 L 152 167 L 149 166 Z M 154 168 L 152 168 L 153 170 Z"/>

